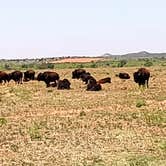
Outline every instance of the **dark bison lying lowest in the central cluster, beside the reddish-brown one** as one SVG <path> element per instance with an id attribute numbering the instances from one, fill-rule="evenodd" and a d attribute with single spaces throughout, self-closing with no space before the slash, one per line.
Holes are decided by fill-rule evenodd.
<path id="1" fill-rule="evenodd" d="M 97 83 L 97 81 L 94 78 L 88 80 L 86 88 L 87 91 L 99 91 L 101 89 L 101 85 Z"/>

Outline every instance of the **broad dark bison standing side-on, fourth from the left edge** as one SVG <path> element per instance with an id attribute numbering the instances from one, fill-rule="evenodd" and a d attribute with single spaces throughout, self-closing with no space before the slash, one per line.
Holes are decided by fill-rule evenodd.
<path id="1" fill-rule="evenodd" d="M 44 81 L 46 86 L 49 87 L 52 82 L 54 86 L 57 85 L 56 81 L 59 80 L 59 74 L 56 72 L 45 71 L 44 73 L 39 73 L 37 76 L 38 81 Z"/>

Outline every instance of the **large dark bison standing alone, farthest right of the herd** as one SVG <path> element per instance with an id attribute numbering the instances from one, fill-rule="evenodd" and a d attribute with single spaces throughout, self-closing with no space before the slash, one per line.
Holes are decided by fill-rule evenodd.
<path id="1" fill-rule="evenodd" d="M 133 76 L 134 76 L 134 81 L 136 83 L 138 83 L 139 86 L 141 86 L 141 85 L 145 86 L 145 84 L 146 84 L 147 88 L 149 87 L 149 85 L 148 85 L 149 77 L 150 77 L 149 70 L 147 70 L 145 68 L 140 68 L 140 69 L 138 69 L 137 72 L 134 72 Z"/>

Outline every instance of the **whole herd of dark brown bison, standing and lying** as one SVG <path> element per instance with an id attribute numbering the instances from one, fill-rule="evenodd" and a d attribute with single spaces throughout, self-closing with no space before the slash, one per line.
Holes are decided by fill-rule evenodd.
<path id="1" fill-rule="evenodd" d="M 120 79 L 130 79 L 128 73 L 119 73 L 116 75 Z M 146 68 L 140 68 L 138 71 L 133 73 L 134 81 L 138 83 L 139 86 L 147 86 L 150 77 L 150 72 Z M 96 80 L 91 73 L 86 72 L 84 69 L 75 69 L 72 72 L 72 79 L 80 79 L 83 83 L 86 84 L 87 91 L 99 91 L 102 89 L 101 84 L 111 83 L 111 78 L 106 77 L 100 80 Z M 70 81 L 68 79 L 60 80 L 60 76 L 58 73 L 53 71 L 45 71 L 43 73 L 39 73 L 37 77 L 35 77 L 34 70 L 27 70 L 26 72 L 21 71 L 13 71 L 11 73 L 6 73 L 4 71 L 0 71 L 0 83 L 10 82 L 10 80 L 14 80 L 17 84 L 22 84 L 22 80 L 24 82 L 30 80 L 38 80 L 43 81 L 46 84 L 46 87 L 57 87 L 57 89 L 70 89 Z"/>

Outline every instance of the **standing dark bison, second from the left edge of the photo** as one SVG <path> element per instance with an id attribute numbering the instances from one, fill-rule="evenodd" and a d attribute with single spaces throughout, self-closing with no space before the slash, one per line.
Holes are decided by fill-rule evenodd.
<path id="1" fill-rule="evenodd" d="M 8 74 L 9 81 L 14 80 L 15 83 L 22 84 L 23 73 L 21 71 L 13 71 L 12 73 Z"/>

